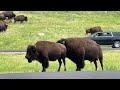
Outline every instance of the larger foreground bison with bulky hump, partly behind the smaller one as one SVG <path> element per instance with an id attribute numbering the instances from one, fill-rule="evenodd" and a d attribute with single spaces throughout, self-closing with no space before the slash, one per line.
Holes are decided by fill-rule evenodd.
<path id="1" fill-rule="evenodd" d="M 87 38 L 66 38 L 58 40 L 57 43 L 61 43 L 66 46 L 66 57 L 76 64 L 76 71 L 80 71 L 84 68 L 85 60 L 94 62 L 95 70 L 97 70 L 98 59 L 103 70 L 102 49 L 95 41 Z"/>

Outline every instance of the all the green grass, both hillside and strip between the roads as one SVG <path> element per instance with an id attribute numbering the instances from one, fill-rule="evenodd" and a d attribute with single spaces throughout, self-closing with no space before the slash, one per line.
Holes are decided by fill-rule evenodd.
<path id="1" fill-rule="evenodd" d="M 67 37 L 84 37 L 85 29 L 101 26 L 103 31 L 120 31 L 120 12 L 109 11 L 14 11 L 25 15 L 28 22 L 10 23 L 6 32 L 0 33 L 0 50 L 25 50 L 38 40 L 56 42 Z M 107 46 L 109 47 L 109 46 Z M 120 51 L 104 51 L 104 70 L 120 70 Z M 0 54 L 0 73 L 40 72 L 38 62 L 28 64 L 25 54 Z M 67 71 L 75 71 L 76 65 L 66 59 Z M 83 70 L 95 70 L 94 64 L 85 61 Z M 47 72 L 56 72 L 58 62 L 50 62 Z M 64 70 L 62 65 L 61 71 Z M 101 70 L 98 63 L 98 70 Z"/>

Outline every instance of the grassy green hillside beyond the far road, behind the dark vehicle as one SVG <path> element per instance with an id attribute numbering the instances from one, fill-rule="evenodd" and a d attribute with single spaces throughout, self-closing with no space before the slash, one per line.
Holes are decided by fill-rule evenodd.
<path id="1" fill-rule="evenodd" d="M 10 23 L 0 33 L 0 50 L 26 49 L 38 40 L 56 42 L 60 38 L 83 37 L 85 29 L 101 26 L 104 31 L 120 31 L 120 12 L 110 11 L 14 11 L 28 22 Z"/>

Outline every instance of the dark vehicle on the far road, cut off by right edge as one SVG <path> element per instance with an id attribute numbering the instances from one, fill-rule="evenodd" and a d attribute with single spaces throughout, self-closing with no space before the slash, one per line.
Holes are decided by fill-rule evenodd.
<path id="1" fill-rule="evenodd" d="M 120 47 L 120 32 L 96 32 L 87 38 L 100 45 L 112 45 L 112 48 Z"/>

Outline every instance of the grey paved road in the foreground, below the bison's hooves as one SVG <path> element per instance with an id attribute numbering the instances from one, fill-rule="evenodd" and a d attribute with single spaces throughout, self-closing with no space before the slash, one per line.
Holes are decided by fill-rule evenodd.
<path id="1" fill-rule="evenodd" d="M 120 79 L 120 71 L 72 71 L 0 74 L 0 79 Z"/>

